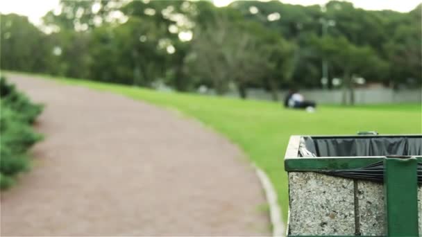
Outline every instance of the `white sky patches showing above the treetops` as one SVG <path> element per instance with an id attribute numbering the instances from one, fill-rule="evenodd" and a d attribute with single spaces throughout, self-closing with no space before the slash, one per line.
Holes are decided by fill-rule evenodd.
<path id="1" fill-rule="evenodd" d="M 49 10 L 58 6 L 59 0 L 1 0 L 0 12 L 15 12 L 19 15 L 26 15 L 29 19 L 38 24 L 40 18 Z M 71 1 L 71 0 L 69 0 Z M 217 6 L 226 6 L 233 0 L 214 0 Z M 300 5 L 324 4 L 329 0 L 281 0 L 283 3 L 292 3 Z M 396 10 L 408 12 L 414 9 L 422 0 L 349 0 L 357 8 L 367 10 Z"/>

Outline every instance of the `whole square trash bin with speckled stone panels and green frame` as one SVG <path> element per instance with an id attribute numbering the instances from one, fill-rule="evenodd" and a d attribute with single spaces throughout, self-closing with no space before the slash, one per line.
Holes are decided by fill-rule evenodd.
<path id="1" fill-rule="evenodd" d="M 287 236 L 422 236 L 422 134 L 292 136 Z"/>

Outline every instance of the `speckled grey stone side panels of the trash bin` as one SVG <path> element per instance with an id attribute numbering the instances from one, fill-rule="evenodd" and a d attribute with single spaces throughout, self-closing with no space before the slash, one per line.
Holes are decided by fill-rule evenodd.
<path id="1" fill-rule="evenodd" d="M 421 186 L 418 194 L 422 213 Z M 384 188 L 380 183 L 290 172 L 289 201 L 289 235 L 386 235 Z"/>

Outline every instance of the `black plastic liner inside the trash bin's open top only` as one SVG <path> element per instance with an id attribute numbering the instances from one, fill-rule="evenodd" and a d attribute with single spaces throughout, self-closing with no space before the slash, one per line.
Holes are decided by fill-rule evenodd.
<path id="1" fill-rule="evenodd" d="M 301 157 L 422 156 L 422 136 L 303 137 Z"/>

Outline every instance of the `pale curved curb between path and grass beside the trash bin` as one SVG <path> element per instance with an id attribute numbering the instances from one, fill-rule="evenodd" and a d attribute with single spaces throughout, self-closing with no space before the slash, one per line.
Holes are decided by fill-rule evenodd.
<path id="1" fill-rule="evenodd" d="M 269 205 L 269 214 L 271 219 L 271 224 L 273 225 L 273 236 L 285 236 L 285 225 L 282 222 L 281 217 L 281 208 L 278 204 L 277 193 L 271 183 L 269 177 L 264 171 L 262 171 L 258 166 L 253 164 L 256 170 L 256 174 L 260 179 L 262 188 L 264 188 L 265 196 L 267 197 L 267 202 Z"/>

